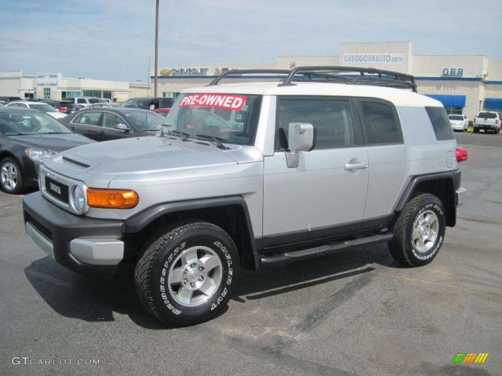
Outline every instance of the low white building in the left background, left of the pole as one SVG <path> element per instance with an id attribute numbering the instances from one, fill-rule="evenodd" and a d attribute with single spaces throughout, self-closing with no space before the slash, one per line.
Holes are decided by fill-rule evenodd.
<path id="1" fill-rule="evenodd" d="M 151 84 L 93 80 L 91 78 L 65 78 L 62 73 L 41 72 L 26 75 L 22 71 L 0 72 L 0 96 L 25 99 L 63 99 L 65 97 L 107 98 L 123 102 L 132 97 L 153 95 Z"/>

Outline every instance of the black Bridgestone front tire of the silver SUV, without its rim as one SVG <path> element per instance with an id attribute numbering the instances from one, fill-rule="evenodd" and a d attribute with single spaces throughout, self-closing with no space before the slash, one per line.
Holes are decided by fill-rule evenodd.
<path id="1" fill-rule="evenodd" d="M 139 258 L 135 268 L 136 293 L 143 306 L 159 321 L 169 326 L 192 325 L 216 316 L 226 306 L 238 274 L 238 252 L 230 236 L 218 226 L 206 222 L 188 223 L 158 235 L 160 236 L 154 236 L 155 239 Z M 179 284 L 178 292 L 171 291 L 173 285 L 168 283 L 169 274 L 174 274 L 173 270 L 179 272 L 180 268 L 175 266 L 183 264 L 184 252 L 196 249 L 197 254 L 204 254 L 205 251 L 200 251 L 199 248 L 212 252 L 212 256 L 218 256 L 221 263 L 218 266 L 221 273 L 218 275 L 221 279 L 210 297 L 194 293 L 193 296 L 207 301 L 194 303 L 198 304 L 196 306 L 184 306 L 181 300 L 178 300 L 181 295 L 176 294 L 184 287 L 182 283 L 187 286 L 186 279 Z M 195 275 L 197 278 L 197 268 L 190 270 L 195 273 L 190 276 Z M 209 277 L 205 276 L 206 279 Z M 192 283 L 195 285 L 196 281 Z"/>

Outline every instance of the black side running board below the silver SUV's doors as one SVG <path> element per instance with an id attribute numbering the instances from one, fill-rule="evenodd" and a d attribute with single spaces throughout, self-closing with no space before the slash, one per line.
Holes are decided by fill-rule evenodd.
<path id="1" fill-rule="evenodd" d="M 324 246 L 302 249 L 300 251 L 285 252 L 273 256 L 262 256 L 261 260 L 262 264 L 286 263 L 292 261 L 306 260 L 314 257 L 330 255 L 332 253 L 335 253 L 336 251 L 350 247 L 367 245 L 367 244 L 386 243 L 392 240 L 392 238 L 393 238 L 392 233 L 373 235 L 360 239 L 347 240 L 339 243 L 332 243 Z"/>

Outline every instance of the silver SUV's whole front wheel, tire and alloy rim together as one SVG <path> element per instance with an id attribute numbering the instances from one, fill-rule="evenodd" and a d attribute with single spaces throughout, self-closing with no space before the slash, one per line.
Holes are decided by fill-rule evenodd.
<path id="1" fill-rule="evenodd" d="M 194 222 L 155 239 L 135 268 L 143 306 L 171 326 L 216 316 L 228 302 L 238 273 L 238 252 L 221 228 Z"/>

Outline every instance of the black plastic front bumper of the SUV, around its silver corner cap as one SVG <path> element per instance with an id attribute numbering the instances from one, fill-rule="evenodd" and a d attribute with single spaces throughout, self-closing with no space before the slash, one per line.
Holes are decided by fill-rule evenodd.
<path id="1" fill-rule="evenodd" d="M 76 260 L 70 253 L 70 242 L 85 237 L 121 239 L 122 221 L 76 216 L 50 203 L 40 192 L 24 197 L 23 215 L 25 223 L 35 220 L 51 232 L 54 258 L 58 264 L 79 273 L 116 273 L 117 265 L 90 265 Z"/>

